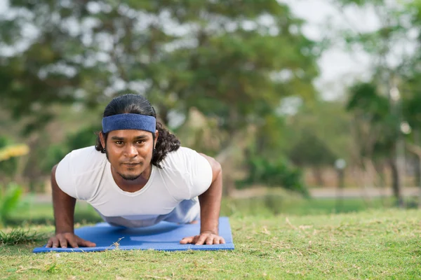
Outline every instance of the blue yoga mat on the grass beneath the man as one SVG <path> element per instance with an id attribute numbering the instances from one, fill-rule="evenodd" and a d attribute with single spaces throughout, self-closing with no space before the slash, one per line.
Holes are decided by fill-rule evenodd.
<path id="1" fill-rule="evenodd" d="M 95 252 L 105 250 L 160 250 L 160 251 L 185 251 L 185 250 L 234 250 L 231 227 L 227 217 L 220 217 L 220 236 L 224 237 L 225 244 L 194 245 L 180 244 L 184 237 L 198 235 L 200 223 L 194 225 L 178 225 L 175 223 L 160 222 L 146 228 L 118 228 L 107 223 L 98 223 L 74 230 L 74 233 L 94 242 L 96 247 L 79 248 L 34 248 L 33 253 L 46 252 Z M 116 246 L 115 243 L 119 245 Z"/>

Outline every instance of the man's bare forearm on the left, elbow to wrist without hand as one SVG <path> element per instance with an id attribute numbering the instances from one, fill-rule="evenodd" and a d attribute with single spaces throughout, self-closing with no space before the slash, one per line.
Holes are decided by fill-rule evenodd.
<path id="1" fill-rule="evenodd" d="M 55 181 L 55 168 L 51 173 L 51 188 L 53 190 L 53 209 L 55 220 L 55 233 L 74 233 L 74 206 L 76 199 L 67 195 Z"/>

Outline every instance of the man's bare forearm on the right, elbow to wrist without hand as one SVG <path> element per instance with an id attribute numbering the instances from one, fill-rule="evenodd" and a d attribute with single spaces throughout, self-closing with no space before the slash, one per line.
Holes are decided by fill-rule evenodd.
<path id="1" fill-rule="evenodd" d="M 215 235 L 218 235 L 221 199 L 222 170 L 219 170 L 208 190 L 202 195 L 199 195 L 201 232 L 213 232 Z"/>

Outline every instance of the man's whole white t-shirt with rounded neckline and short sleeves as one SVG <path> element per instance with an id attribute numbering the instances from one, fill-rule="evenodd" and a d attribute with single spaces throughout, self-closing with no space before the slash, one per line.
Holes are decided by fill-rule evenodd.
<path id="1" fill-rule="evenodd" d="M 183 200 L 204 193 L 212 182 L 212 168 L 196 151 L 180 147 L 152 165 L 146 185 L 135 193 L 121 190 L 104 153 L 94 146 L 74 150 L 63 158 L 55 172 L 59 188 L 67 195 L 91 204 L 107 221 L 122 217 L 128 221 L 149 220 L 169 214 Z"/>

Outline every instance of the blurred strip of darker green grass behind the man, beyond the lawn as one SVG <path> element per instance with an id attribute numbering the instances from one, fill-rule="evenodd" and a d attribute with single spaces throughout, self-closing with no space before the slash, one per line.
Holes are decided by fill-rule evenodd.
<path id="1" fill-rule="evenodd" d="M 267 195 L 252 199 L 224 199 L 221 204 L 221 216 L 273 216 L 278 214 L 321 215 L 349 213 L 368 209 L 389 209 L 392 199 L 373 199 L 366 202 L 352 198 L 340 202 L 333 199 L 310 199 L 288 197 L 285 195 Z M 88 204 L 77 202 L 74 217 L 75 223 L 98 223 L 98 213 Z M 54 225 L 53 206 L 51 203 L 29 204 L 29 207 L 12 214 L 6 225 Z"/>

